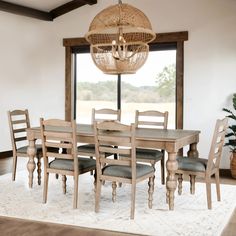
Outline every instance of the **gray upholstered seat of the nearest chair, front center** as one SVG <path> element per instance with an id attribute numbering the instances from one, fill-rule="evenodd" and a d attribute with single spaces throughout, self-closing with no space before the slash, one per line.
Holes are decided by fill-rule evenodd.
<path id="1" fill-rule="evenodd" d="M 152 172 L 154 172 L 154 168 L 152 166 L 144 164 L 136 164 L 137 178 L 140 178 Z M 132 170 L 130 166 L 107 165 L 103 169 L 103 175 L 131 179 Z"/>

